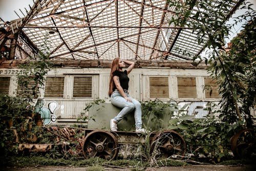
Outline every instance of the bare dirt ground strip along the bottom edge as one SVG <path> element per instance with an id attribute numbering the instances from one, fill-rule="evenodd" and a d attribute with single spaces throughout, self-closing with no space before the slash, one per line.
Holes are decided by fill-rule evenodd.
<path id="1" fill-rule="evenodd" d="M 24 167 L 24 168 L 0 168 L 0 171 L 86 171 L 88 167 L 73 167 L 73 166 L 40 166 L 40 167 Z M 130 171 L 134 168 L 128 167 L 104 167 L 106 171 Z M 191 166 L 179 166 L 179 167 L 147 167 L 141 168 L 145 171 L 254 171 L 256 165 L 191 165 Z"/>

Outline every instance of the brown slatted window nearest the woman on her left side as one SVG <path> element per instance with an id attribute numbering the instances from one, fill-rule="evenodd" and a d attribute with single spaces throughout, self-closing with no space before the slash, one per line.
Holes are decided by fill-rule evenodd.
<path id="1" fill-rule="evenodd" d="M 73 97 L 92 97 L 92 77 L 74 77 Z"/>

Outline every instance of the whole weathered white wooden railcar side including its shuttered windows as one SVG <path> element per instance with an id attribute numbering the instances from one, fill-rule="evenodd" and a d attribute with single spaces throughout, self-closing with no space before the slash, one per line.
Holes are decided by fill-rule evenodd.
<path id="1" fill-rule="evenodd" d="M 16 63 L 15 63 L 16 62 Z M 17 61 L 4 61 L 0 68 L 0 93 L 16 96 L 18 87 L 16 74 Z M 108 90 L 111 61 L 87 61 L 87 67 L 81 67 L 78 61 L 54 61 L 54 69 L 46 75 L 44 89 L 40 97 L 45 99 L 45 106 L 51 101 L 57 103 L 54 115 L 55 124 L 71 124 L 77 121 L 87 102 L 97 98 L 110 103 Z M 139 101 L 159 99 L 178 103 L 197 103 L 193 112 L 203 108 L 209 102 L 219 101 L 217 84 L 209 77 L 204 63 L 195 65 L 192 61 L 142 61 L 129 74 L 129 93 Z M 212 88 L 204 90 L 204 86 Z M 200 107 L 199 107 L 200 105 Z M 192 112 L 192 113 L 193 113 Z M 198 112 L 197 112 L 198 113 Z M 200 114 L 199 115 L 205 115 Z"/>

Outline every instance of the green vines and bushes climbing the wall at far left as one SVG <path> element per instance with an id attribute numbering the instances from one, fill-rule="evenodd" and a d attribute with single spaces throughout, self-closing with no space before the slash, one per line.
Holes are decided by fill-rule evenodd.
<path id="1" fill-rule="evenodd" d="M 42 128 L 35 125 L 35 120 L 40 118 L 40 115 L 35 112 L 32 106 L 32 100 L 38 97 L 39 88 L 42 88 L 45 83 L 45 75 L 53 67 L 50 63 L 49 55 L 49 41 L 46 35 L 43 50 L 39 51 L 36 56 L 30 56 L 28 60 L 21 63 L 18 67 L 22 72 L 17 74 L 18 91 L 17 97 L 1 95 L 0 103 L 0 124 L 1 147 L 3 149 L 12 143 L 28 143 L 35 142 L 32 136 L 36 136 L 36 142 L 47 141 L 42 137 Z M 30 121 L 29 121 L 30 120 Z M 12 121 L 12 126 L 8 126 L 7 122 Z M 13 130 L 13 131 L 12 131 Z M 11 132 L 11 133 L 10 133 Z M 45 139 L 45 140 L 44 140 Z M 7 154 L 8 151 L 7 151 Z"/>

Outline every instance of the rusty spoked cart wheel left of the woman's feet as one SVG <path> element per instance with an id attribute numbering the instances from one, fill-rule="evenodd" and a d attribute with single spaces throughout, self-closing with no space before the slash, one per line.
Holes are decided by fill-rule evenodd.
<path id="1" fill-rule="evenodd" d="M 96 130 L 84 138 L 82 149 L 86 159 L 99 157 L 113 160 L 118 154 L 118 143 L 116 137 L 110 132 Z"/>

